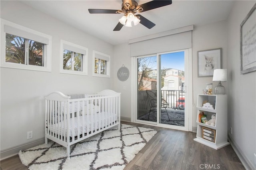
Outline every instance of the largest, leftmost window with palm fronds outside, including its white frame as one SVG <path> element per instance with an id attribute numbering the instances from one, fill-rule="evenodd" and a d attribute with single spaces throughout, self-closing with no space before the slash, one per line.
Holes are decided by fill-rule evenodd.
<path id="1" fill-rule="evenodd" d="M 51 36 L 1 21 L 1 67 L 51 71 Z"/>

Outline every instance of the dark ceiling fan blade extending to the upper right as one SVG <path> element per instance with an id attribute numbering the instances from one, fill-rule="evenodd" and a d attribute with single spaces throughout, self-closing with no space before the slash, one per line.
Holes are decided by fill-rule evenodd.
<path id="1" fill-rule="evenodd" d="M 137 9 L 142 7 L 143 8 L 142 12 L 145 12 L 148 10 L 152 10 L 152 9 L 170 5 L 170 4 L 172 4 L 172 0 L 152 0 L 150 2 L 137 6 Z"/>

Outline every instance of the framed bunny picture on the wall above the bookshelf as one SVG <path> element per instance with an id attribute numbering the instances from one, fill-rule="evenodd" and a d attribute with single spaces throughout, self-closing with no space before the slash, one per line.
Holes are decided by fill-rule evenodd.
<path id="1" fill-rule="evenodd" d="M 212 77 L 222 67 L 222 48 L 198 51 L 198 77 Z"/>

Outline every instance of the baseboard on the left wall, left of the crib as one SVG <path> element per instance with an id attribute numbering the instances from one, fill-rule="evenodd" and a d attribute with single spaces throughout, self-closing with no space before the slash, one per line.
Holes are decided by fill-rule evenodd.
<path id="1" fill-rule="evenodd" d="M 0 160 L 4 160 L 6 158 L 10 158 L 11 156 L 14 156 L 16 154 L 18 154 L 20 152 L 20 150 L 26 150 L 28 148 L 37 146 L 39 144 L 43 144 L 44 143 L 44 137 L 37 139 L 37 140 L 33 140 L 31 142 L 27 142 L 24 144 L 20 144 L 8 149 L 4 149 L 0 151 Z"/>

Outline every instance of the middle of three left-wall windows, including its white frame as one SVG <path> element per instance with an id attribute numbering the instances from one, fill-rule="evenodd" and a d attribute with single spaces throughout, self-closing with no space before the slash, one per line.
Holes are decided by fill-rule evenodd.
<path id="1" fill-rule="evenodd" d="M 87 75 L 88 49 L 74 43 L 61 40 L 62 68 L 60 73 Z"/>

